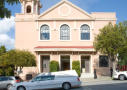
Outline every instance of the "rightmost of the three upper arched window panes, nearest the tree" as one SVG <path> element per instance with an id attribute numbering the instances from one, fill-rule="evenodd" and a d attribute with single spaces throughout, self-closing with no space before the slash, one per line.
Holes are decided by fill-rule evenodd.
<path id="1" fill-rule="evenodd" d="M 81 40 L 90 40 L 90 27 L 84 24 L 81 26 L 80 30 Z"/>

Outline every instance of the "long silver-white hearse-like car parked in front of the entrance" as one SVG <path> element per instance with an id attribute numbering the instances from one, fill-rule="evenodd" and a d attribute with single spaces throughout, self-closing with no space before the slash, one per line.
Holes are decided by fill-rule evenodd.
<path id="1" fill-rule="evenodd" d="M 34 77 L 29 82 L 14 84 L 11 87 L 11 90 L 45 90 L 53 88 L 63 88 L 64 90 L 69 90 L 71 87 L 80 87 L 80 79 L 78 75 L 74 73 L 76 73 L 74 70 L 42 73 Z"/>

